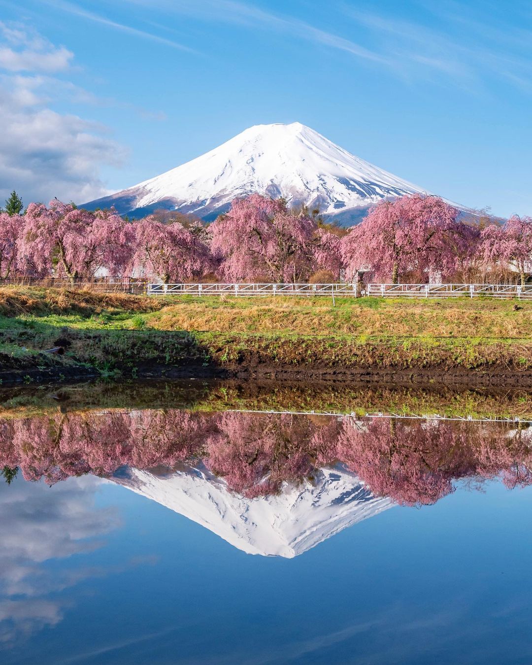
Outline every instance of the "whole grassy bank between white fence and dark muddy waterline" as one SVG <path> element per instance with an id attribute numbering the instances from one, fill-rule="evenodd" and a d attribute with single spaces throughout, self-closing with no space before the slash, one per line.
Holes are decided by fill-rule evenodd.
<path id="1" fill-rule="evenodd" d="M 0 289 L 0 372 L 137 376 L 186 368 L 324 378 L 475 370 L 532 385 L 532 303 L 227 297 Z M 65 347 L 63 358 L 39 353 Z M 65 374 L 65 368 L 68 372 Z M 166 368 L 166 370 L 164 369 Z M 5 377 L 9 380 L 9 377 Z M 20 379 L 20 377 L 19 377 Z"/>

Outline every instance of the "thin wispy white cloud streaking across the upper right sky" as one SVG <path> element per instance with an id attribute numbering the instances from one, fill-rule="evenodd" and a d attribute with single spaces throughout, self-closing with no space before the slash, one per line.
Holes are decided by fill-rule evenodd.
<path id="1" fill-rule="evenodd" d="M 434 3 L 418 0 L 418 18 L 400 18 L 394 8 L 392 15 L 360 9 L 359 3 L 338 0 L 331 4 L 329 25 L 338 31 L 326 30 L 301 17 L 274 13 L 253 2 L 240 0 L 116 0 L 116 3 L 143 7 L 166 15 L 180 15 L 204 22 L 223 22 L 290 35 L 291 38 L 343 51 L 356 59 L 386 68 L 404 80 L 431 80 L 449 87 L 479 92 L 485 80 L 497 76 L 514 87 L 532 87 L 532 60 L 528 49 L 532 31 L 519 25 L 501 28 L 487 25 L 484 12 L 452 0 Z M 487 2 L 484 4 L 488 4 Z M 489 3 L 505 21 L 501 5 Z M 436 20 L 435 20 L 436 19 Z M 462 25 L 464 34 L 451 27 Z M 363 35 L 354 41 L 350 35 Z M 514 39 L 515 37 L 515 39 Z M 519 49 L 526 48 L 526 53 Z"/>

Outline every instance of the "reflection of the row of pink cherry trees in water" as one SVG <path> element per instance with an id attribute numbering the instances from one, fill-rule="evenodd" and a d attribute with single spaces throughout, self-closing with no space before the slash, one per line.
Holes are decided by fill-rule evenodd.
<path id="1" fill-rule="evenodd" d="M 122 466 L 201 460 L 246 497 L 275 493 L 341 462 L 375 495 L 404 505 L 434 503 L 465 479 L 532 484 L 532 435 L 508 424 L 316 418 L 180 410 L 57 412 L 0 420 L 0 469 L 19 467 L 49 483 Z M 8 474 L 9 475 L 9 474 Z"/>

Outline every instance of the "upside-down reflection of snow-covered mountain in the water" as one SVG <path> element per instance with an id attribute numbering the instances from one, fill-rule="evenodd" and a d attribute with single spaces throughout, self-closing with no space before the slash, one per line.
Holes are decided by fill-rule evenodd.
<path id="1" fill-rule="evenodd" d="M 318 469 L 313 483 L 285 483 L 278 495 L 258 499 L 231 493 L 202 464 L 168 473 L 129 468 L 114 481 L 263 556 L 295 557 L 393 505 L 340 465 Z"/>

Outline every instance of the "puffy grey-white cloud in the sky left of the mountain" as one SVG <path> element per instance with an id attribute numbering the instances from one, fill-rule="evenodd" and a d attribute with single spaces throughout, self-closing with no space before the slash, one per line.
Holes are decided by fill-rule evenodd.
<path id="1" fill-rule="evenodd" d="M 13 189 L 25 203 L 55 196 L 84 203 L 108 194 L 100 170 L 120 166 L 126 151 L 106 127 L 51 108 L 57 100 L 100 101 L 49 76 L 68 68 L 72 54 L 19 25 L 0 23 L 0 40 L 0 205 Z"/>

